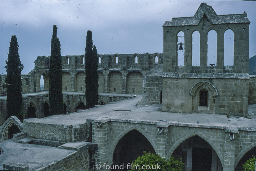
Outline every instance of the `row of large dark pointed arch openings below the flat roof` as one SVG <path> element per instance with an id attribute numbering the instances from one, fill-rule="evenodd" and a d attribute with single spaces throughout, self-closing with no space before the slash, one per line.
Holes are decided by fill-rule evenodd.
<path id="1" fill-rule="evenodd" d="M 113 151 L 113 166 L 127 166 L 132 163 L 143 152 L 156 154 L 156 151 L 149 140 L 138 130 L 131 130 L 126 133 L 116 144 Z M 256 147 L 249 150 L 239 161 L 235 170 L 242 171 L 242 164 L 256 153 Z M 184 170 L 216 170 L 222 171 L 222 163 L 216 151 L 202 137 L 194 135 L 184 140 L 173 151 L 171 157 L 182 158 Z M 115 169 L 113 169 L 115 170 Z"/>

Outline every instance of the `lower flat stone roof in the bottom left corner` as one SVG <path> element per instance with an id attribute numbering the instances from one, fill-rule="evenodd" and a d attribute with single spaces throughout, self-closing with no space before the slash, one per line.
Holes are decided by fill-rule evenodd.
<path id="1" fill-rule="evenodd" d="M 2 150 L 0 170 L 3 170 L 3 164 L 8 162 L 27 164 L 29 170 L 40 170 L 40 168 L 76 152 L 43 145 L 16 143 L 13 139 L 2 142 L 0 148 Z"/>

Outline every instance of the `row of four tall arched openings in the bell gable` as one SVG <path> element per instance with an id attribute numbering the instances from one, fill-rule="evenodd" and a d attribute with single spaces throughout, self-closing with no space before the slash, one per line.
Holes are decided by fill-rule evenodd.
<path id="1" fill-rule="evenodd" d="M 221 28 L 220 28 L 221 29 Z M 185 54 L 180 49 L 179 43 L 183 43 L 185 50 L 185 35 L 182 31 L 177 34 L 177 63 L 178 66 L 184 66 Z M 217 65 L 217 33 L 210 30 L 207 34 L 207 65 Z M 224 66 L 234 65 L 234 33 L 231 29 L 227 29 L 224 33 Z M 192 66 L 200 66 L 200 33 L 194 31 L 192 34 Z"/>

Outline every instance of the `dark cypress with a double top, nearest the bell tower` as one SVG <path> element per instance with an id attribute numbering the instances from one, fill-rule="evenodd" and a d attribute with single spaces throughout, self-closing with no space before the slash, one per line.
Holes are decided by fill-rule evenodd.
<path id="1" fill-rule="evenodd" d="M 99 94 L 99 83 L 98 83 L 98 59 L 97 49 L 92 43 L 92 32 L 87 31 L 86 36 L 86 47 L 85 47 L 85 96 L 86 96 L 86 107 L 93 108 L 98 104 Z"/>

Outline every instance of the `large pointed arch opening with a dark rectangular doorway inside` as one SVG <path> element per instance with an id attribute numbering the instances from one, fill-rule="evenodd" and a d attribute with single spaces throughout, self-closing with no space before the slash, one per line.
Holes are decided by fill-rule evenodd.
<path id="1" fill-rule="evenodd" d="M 215 150 L 208 142 L 197 135 L 183 141 L 174 150 L 172 157 L 175 159 L 182 157 L 185 170 L 223 170 Z"/>

